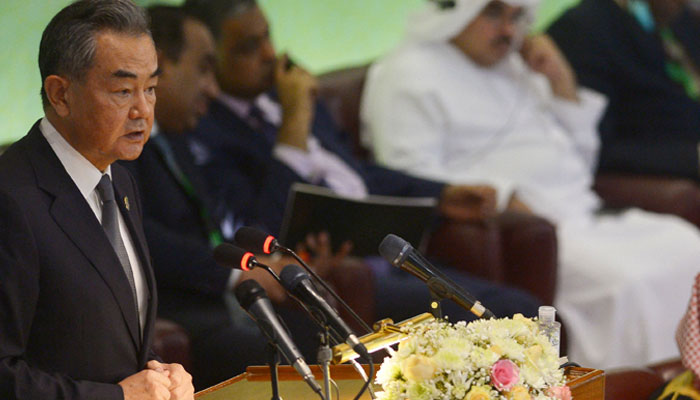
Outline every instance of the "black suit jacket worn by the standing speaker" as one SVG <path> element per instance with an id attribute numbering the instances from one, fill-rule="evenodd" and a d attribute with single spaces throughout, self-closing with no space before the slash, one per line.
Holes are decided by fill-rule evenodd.
<path id="1" fill-rule="evenodd" d="M 141 205 L 128 172 L 112 177 L 149 286 L 143 339 L 119 259 L 39 124 L 0 157 L 0 398 L 122 399 L 116 383 L 155 358 Z"/>

